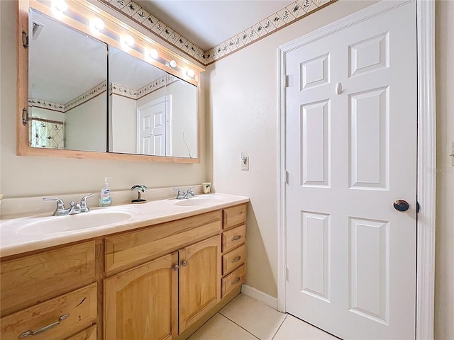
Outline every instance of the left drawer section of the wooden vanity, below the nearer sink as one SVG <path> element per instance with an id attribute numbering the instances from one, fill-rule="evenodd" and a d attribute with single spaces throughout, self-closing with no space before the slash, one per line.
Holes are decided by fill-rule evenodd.
<path id="1" fill-rule="evenodd" d="M 96 339 L 94 258 L 89 241 L 1 259 L 1 339 Z"/>

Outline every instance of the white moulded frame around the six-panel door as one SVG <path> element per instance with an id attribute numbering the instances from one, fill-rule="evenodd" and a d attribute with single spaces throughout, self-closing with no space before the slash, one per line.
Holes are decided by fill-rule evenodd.
<path id="1" fill-rule="evenodd" d="M 285 312 L 287 227 L 285 220 L 285 58 L 288 52 L 354 23 L 401 6 L 407 1 L 380 1 L 361 11 L 308 33 L 278 48 L 279 183 L 277 234 L 277 306 Z M 435 1 L 416 0 L 418 54 L 418 162 L 416 196 L 421 206 L 417 222 L 416 339 L 433 339 L 436 204 Z"/>

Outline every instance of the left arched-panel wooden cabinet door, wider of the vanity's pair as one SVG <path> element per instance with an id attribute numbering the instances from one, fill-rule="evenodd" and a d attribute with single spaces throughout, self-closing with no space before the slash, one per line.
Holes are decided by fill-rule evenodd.
<path id="1" fill-rule="evenodd" d="M 177 252 L 104 280 L 105 340 L 168 340 L 178 335 Z"/>

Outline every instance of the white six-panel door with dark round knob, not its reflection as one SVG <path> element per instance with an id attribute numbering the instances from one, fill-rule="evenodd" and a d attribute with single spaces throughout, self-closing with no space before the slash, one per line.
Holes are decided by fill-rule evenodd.
<path id="1" fill-rule="evenodd" d="M 343 339 L 414 339 L 416 3 L 285 65 L 287 312 Z"/>

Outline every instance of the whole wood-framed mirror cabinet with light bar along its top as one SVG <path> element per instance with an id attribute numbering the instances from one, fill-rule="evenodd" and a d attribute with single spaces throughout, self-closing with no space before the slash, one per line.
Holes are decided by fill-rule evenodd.
<path id="1" fill-rule="evenodd" d="M 28 111 L 19 101 L 18 154 L 199 162 L 203 69 L 155 42 L 150 58 L 150 38 L 106 13 L 108 27 L 91 33 L 92 19 L 83 16 L 99 16 L 99 9 L 69 4 L 65 17 L 50 4 L 19 1 L 18 64 L 26 60 L 28 72 L 18 70 L 18 90 L 27 94 Z M 125 33 L 141 44 L 123 45 Z M 194 66 L 196 73 L 188 72 Z"/>

